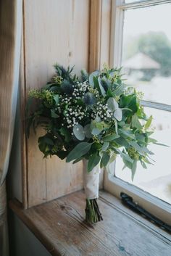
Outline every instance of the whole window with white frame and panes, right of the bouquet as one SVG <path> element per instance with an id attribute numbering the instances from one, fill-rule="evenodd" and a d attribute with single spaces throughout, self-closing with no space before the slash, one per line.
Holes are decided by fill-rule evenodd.
<path id="1" fill-rule="evenodd" d="M 123 67 L 127 83 L 143 92 L 141 104 L 153 115 L 153 137 L 170 145 L 151 146 L 154 165 L 138 166 L 134 181 L 120 159 L 105 188 L 131 194 L 141 205 L 170 223 L 171 204 L 171 1 L 116 0 L 112 10 L 111 65 Z M 153 207 L 151 207 L 153 206 Z"/>

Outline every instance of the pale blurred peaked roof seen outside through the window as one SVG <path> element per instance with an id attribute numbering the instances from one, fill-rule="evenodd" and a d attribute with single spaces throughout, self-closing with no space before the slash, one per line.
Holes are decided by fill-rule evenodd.
<path id="1" fill-rule="evenodd" d="M 139 52 L 135 54 L 130 59 L 127 59 L 123 63 L 123 67 L 131 68 L 133 70 L 143 70 L 143 69 L 155 69 L 158 70 L 160 65 L 154 59 L 151 59 L 146 54 Z"/>

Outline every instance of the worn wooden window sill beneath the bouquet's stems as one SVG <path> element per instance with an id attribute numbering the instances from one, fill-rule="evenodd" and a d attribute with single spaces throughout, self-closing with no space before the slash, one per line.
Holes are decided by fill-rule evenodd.
<path id="1" fill-rule="evenodd" d="M 9 207 L 54 256 L 170 256 L 170 235 L 105 191 L 99 197 L 104 221 L 95 226 L 84 222 L 83 191 L 28 210 L 16 200 Z"/>

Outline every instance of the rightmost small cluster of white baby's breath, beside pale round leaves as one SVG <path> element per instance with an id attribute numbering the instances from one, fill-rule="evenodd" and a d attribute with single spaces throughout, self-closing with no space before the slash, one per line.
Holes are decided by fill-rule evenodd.
<path id="1" fill-rule="evenodd" d="M 98 116 L 101 118 L 101 120 L 107 120 L 107 118 L 111 118 L 112 115 L 113 115 L 112 111 L 109 110 L 109 108 L 107 107 L 107 104 L 102 104 L 100 102 L 97 102 L 96 109 L 93 110 L 91 117 L 95 119 L 96 116 Z"/>

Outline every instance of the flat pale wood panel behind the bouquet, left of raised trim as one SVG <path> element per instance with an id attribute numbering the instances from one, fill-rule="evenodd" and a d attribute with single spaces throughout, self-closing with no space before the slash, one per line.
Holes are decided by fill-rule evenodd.
<path id="1" fill-rule="evenodd" d="M 89 1 L 25 1 L 25 84 L 41 88 L 53 75 L 52 65 L 88 68 Z M 33 133 L 28 140 L 28 206 L 82 188 L 81 164 L 53 157 L 43 160 Z"/>

